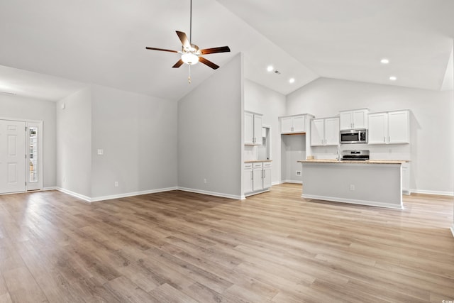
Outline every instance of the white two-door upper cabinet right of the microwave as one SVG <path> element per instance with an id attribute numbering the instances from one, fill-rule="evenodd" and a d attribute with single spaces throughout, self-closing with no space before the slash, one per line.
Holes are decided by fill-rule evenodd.
<path id="1" fill-rule="evenodd" d="M 410 143 L 410 112 L 405 110 L 370 114 L 368 143 Z"/>

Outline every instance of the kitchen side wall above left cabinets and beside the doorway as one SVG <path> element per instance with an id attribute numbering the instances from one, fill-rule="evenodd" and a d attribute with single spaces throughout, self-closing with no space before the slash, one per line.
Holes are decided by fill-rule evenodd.
<path id="1" fill-rule="evenodd" d="M 248 79 L 244 80 L 244 109 L 263 114 L 262 123 L 271 126 L 272 183 L 281 180 L 281 135 L 277 117 L 286 111 L 285 96 Z"/>

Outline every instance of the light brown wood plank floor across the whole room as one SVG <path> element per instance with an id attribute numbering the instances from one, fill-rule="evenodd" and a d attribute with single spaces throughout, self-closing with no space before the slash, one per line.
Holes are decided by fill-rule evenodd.
<path id="1" fill-rule="evenodd" d="M 454 300 L 452 197 L 396 210 L 300 195 L 0 196 L 0 302 Z"/>

